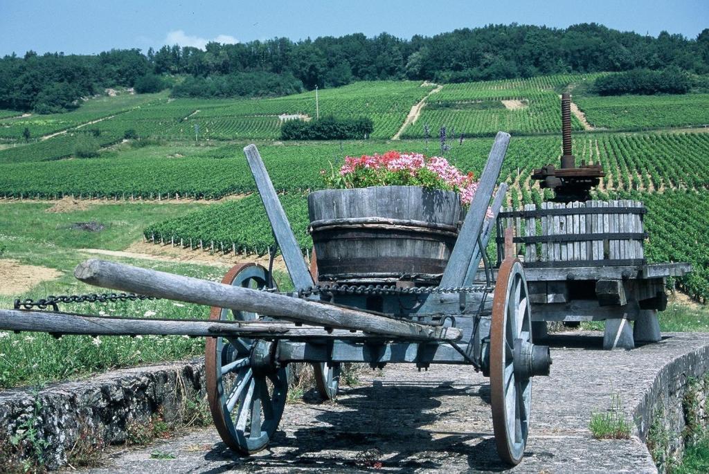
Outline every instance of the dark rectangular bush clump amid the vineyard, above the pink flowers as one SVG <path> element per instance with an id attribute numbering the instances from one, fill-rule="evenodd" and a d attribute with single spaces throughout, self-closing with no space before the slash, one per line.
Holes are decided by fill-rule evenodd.
<path id="1" fill-rule="evenodd" d="M 371 118 L 335 118 L 288 120 L 281 125 L 281 140 L 362 140 L 372 135 Z"/>

